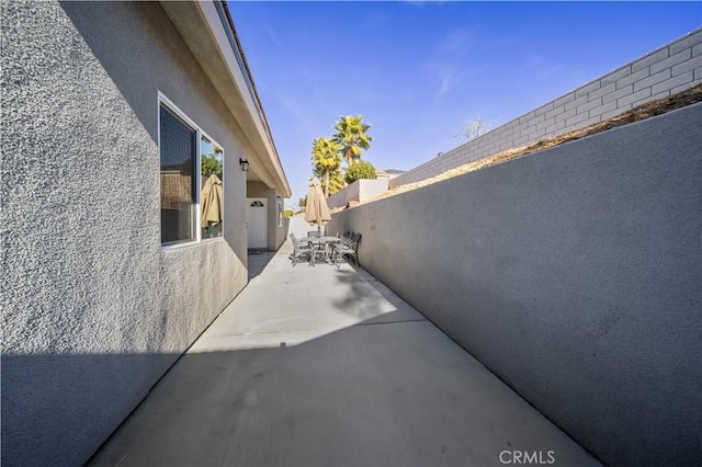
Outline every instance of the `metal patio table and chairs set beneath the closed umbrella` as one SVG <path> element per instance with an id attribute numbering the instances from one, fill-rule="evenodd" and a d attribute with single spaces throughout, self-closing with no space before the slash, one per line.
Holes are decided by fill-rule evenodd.
<path id="1" fill-rule="evenodd" d="M 298 262 L 306 261 L 314 266 L 320 262 L 341 266 L 340 260 L 349 257 L 355 264 L 359 263 L 358 248 L 361 241 L 361 234 L 346 231 L 337 237 L 322 236 L 319 231 L 308 231 L 307 237 L 297 238 L 295 234 L 290 235 L 293 242 L 293 254 L 291 257 L 293 266 Z"/>

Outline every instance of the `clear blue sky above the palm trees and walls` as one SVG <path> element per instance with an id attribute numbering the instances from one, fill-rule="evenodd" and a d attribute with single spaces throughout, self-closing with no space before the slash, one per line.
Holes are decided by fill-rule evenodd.
<path id="1" fill-rule="evenodd" d="M 293 190 L 342 115 L 409 170 L 465 122 L 505 124 L 702 25 L 700 2 L 229 1 Z"/>

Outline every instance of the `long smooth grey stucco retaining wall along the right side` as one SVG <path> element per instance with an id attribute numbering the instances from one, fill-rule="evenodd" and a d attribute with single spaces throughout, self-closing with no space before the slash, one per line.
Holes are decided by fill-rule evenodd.
<path id="1" fill-rule="evenodd" d="M 327 231 L 362 234 L 364 269 L 605 464 L 702 465 L 701 122 L 690 105 Z"/>

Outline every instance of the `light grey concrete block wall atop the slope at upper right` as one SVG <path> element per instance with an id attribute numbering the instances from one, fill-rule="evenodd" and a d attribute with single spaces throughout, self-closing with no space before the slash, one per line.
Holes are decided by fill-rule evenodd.
<path id="1" fill-rule="evenodd" d="M 702 29 L 393 179 L 418 182 L 490 155 L 585 128 L 702 83 Z"/>

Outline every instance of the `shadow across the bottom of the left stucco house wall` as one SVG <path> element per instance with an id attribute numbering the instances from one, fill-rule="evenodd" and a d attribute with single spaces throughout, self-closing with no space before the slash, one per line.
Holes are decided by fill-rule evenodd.
<path id="1" fill-rule="evenodd" d="M 178 356 L 3 353 L 0 464 L 82 465 Z"/>

